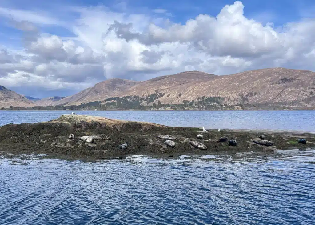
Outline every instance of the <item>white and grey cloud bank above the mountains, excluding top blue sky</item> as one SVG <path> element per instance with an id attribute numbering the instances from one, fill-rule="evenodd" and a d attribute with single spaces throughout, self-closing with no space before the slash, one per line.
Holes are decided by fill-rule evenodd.
<path id="1" fill-rule="evenodd" d="M 266 67 L 315 69 L 315 20 L 263 25 L 244 16 L 240 1 L 216 16 L 199 14 L 184 24 L 172 22 L 163 9 L 152 14 L 104 6 L 68 10 L 76 17 L 63 21 L 0 8 L 0 18 L 21 33 L 23 45 L 12 49 L 1 43 L 1 85 L 46 97 L 72 94 L 109 78 L 145 80 L 187 70 L 223 75 Z M 51 26 L 73 36 L 46 32 Z"/>

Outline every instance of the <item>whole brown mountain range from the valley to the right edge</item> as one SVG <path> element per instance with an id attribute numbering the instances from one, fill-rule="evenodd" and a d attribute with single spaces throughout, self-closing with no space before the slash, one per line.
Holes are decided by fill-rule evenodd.
<path id="1" fill-rule="evenodd" d="M 109 107 L 139 105 L 206 105 L 315 107 L 315 73 L 309 70 L 267 68 L 216 76 L 186 71 L 143 82 L 110 79 L 51 106 L 101 101 Z M 128 103 L 128 104 L 127 104 Z M 98 104 L 98 103 L 97 103 Z"/>

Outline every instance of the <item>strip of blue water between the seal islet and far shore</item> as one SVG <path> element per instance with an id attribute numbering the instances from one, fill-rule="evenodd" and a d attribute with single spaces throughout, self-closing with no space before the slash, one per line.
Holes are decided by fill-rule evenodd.
<path id="1" fill-rule="evenodd" d="M 36 123 L 71 111 L 0 111 L 0 126 Z M 169 126 L 221 129 L 278 129 L 315 132 L 314 111 L 77 111 L 78 114 L 148 121 Z"/>

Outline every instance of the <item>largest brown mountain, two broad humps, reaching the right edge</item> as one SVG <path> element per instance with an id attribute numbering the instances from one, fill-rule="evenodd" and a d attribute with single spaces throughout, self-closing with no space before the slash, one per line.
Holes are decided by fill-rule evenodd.
<path id="1" fill-rule="evenodd" d="M 188 104 L 192 101 L 194 104 L 199 101 L 201 105 L 314 107 L 315 73 L 267 68 L 215 76 L 189 71 L 141 82 L 118 97 L 130 95 L 142 97 L 142 100 L 132 100 L 142 101 L 141 104 Z"/>

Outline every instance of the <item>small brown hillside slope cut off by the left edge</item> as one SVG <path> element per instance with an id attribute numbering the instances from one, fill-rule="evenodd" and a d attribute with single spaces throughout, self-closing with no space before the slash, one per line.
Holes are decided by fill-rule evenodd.
<path id="1" fill-rule="evenodd" d="M 23 95 L 0 85 L 0 108 L 13 107 L 34 107 L 35 105 Z"/>

